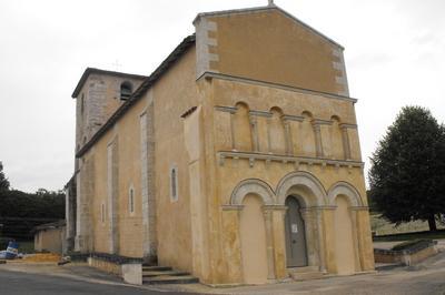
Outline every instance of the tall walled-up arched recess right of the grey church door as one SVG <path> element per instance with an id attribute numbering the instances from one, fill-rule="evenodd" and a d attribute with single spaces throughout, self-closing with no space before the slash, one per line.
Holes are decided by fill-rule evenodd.
<path id="1" fill-rule="evenodd" d="M 337 196 L 335 203 L 337 205 L 334 214 L 337 273 L 342 275 L 353 274 L 355 272 L 355 247 L 349 204 L 343 195 Z"/>

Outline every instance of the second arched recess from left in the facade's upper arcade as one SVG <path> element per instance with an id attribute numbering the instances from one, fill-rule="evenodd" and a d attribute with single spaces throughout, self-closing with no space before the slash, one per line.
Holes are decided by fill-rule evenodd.
<path id="1" fill-rule="evenodd" d="M 270 152 L 276 154 L 286 153 L 285 126 L 283 124 L 281 109 L 274 106 L 270 109 L 271 118 L 269 120 L 269 146 Z"/>

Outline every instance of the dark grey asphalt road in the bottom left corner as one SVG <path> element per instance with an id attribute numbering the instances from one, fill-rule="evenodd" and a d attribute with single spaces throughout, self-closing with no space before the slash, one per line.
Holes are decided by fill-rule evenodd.
<path id="1" fill-rule="evenodd" d="M 59 294 L 178 294 L 156 292 L 131 286 L 97 284 L 72 279 L 68 277 L 53 277 L 41 274 L 27 274 L 0 269 L 1 295 L 59 295 Z M 180 293 L 185 294 L 185 293 Z"/>

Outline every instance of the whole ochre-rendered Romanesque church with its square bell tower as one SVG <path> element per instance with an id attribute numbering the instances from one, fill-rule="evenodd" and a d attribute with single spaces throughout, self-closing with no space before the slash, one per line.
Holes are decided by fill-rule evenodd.
<path id="1" fill-rule="evenodd" d="M 344 48 L 271 1 L 192 23 L 148 77 L 80 78 L 71 250 L 216 285 L 373 271 Z"/>

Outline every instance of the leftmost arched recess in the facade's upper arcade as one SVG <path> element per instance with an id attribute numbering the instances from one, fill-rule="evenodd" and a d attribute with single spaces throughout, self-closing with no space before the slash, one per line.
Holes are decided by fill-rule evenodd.
<path id="1" fill-rule="evenodd" d="M 234 115 L 234 141 L 235 149 L 238 151 L 251 151 L 251 129 L 249 120 L 249 106 L 244 102 L 238 102 Z"/>

